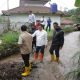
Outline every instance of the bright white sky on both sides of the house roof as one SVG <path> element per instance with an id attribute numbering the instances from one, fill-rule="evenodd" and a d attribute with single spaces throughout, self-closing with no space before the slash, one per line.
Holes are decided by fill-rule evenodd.
<path id="1" fill-rule="evenodd" d="M 7 1 L 9 1 L 9 9 L 19 6 L 19 0 L 1 0 L 0 1 L 0 13 L 2 10 L 7 10 Z M 57 3 L 59 10 L 73 9 L 75 0 L 51 0 L 50 3 Z M 46 6 L 50 6 L 49 3 Z"/>

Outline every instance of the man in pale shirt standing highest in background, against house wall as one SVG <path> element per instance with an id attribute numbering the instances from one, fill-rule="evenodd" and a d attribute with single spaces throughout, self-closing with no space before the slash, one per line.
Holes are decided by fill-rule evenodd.
<path id="1" fill-rule="evenodd" d="M 36 21 L 35 15 L 32 13 L 32 11 L 29 11 L 28 22 L 29 22 L 30 32 L 32 32 L 32 30 L 34 29 L 35 21 Z"/>

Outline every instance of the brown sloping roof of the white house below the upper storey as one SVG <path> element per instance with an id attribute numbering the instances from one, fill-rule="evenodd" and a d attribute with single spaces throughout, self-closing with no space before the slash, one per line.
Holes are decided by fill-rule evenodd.
<path id="1" fill-rule="evenodd" d="M 2 11 L 4 15 L 10 15 L 10 14 L 21 14 L 21 13 L 29 13 L 29 11 L 32 11 L 33 13 L 47 13 L 50 14 L 50 8 L 45 6 L 20 6 L 16 7 L 10 10 Z M 56 13 L 57 15 L 63 15 L 64 13 L 61 11 L 58 11 Z"/>

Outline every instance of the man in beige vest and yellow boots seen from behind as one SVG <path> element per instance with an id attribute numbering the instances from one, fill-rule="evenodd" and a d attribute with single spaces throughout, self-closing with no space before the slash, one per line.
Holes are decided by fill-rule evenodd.
<path id="1" fill-rule="evenodd" d="M 25 64 L 25 70 L 21 74 L 22 76 L 27 76 L 30 74 L 29 56 L 32 52 L 32 36 L 27 31 L 26 25 L 21 26 L 21 34 L 19 36 L 18 44 L 21 50 L 21 56 Z"/>

